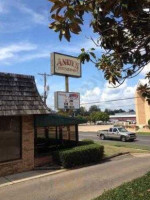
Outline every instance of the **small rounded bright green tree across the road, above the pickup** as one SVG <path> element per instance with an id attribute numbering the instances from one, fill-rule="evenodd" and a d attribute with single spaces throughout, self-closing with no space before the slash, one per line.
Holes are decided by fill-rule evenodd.
<path id="1" fill-rule="evenodd" d="M 109 115 L 106 112 L 92 112 L 90 114 L 90 119 L 92 122 L 96 121 L 108 121 L 109 120 Z"/>

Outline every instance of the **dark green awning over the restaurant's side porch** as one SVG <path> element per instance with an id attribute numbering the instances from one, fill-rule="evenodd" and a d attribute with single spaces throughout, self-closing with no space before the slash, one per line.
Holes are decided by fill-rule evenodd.
<path id="1" fill-rule="evenodd" d="M 35 116 L 36 127 L 48 126 L 67 126 L 86 123 L 86 120 L 77 119 L 74 117 L 65 117 L 57 114 L 46 114 Z"/>

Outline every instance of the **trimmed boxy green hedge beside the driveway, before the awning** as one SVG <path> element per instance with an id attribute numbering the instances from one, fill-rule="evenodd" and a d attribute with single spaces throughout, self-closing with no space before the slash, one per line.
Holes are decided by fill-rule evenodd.
<path id="1" fill-rule="evenodd" d="M 99 144 L 89 144 L 60 150 L 53 154 L 54 160 L 65 168 L 97 163 L 104 155 L 104 147 Z"/>

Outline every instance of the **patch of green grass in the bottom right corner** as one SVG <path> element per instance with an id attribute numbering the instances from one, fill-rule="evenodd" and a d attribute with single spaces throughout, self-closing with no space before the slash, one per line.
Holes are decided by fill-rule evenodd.
<path id="1" fill-rule="evenodd" d="M 95 200 L 150 200 L 150 173 L 104 192 Z"/>

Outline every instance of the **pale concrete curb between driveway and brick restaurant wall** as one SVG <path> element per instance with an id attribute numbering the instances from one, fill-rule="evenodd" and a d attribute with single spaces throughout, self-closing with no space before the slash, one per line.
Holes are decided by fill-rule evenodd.
<path id="1" fill-rule="evenodd" d="M 55 172 L 49 172 L 49 173 L 45 173 L 45 174 L 41 174 L 41 175 L 36 175 L 36 176 L 29 177 L 29 178 L 24 178 L 24 179 L 21 179 L 21 180 L 17 180 L 17 181 L 10 181 L 9 180 L 10 182 L 1 184 L 0 188 L 6 187 L 6 186 L 9 186 L 9 185 L 14 185 L 14 184 L 17 184 L 17 183 L 22 183 L 22 182 L 26 182 L 26 181 L 42 178 L 42 177 L 46 177 L 46 176 L 50 176 L 50 175 L 60 174 L 60 173 L 65 172 L 65 171 L 68 171 L 68 170 L 67 169 L 61 169 L 61 170 L 57 170 Z"/>

